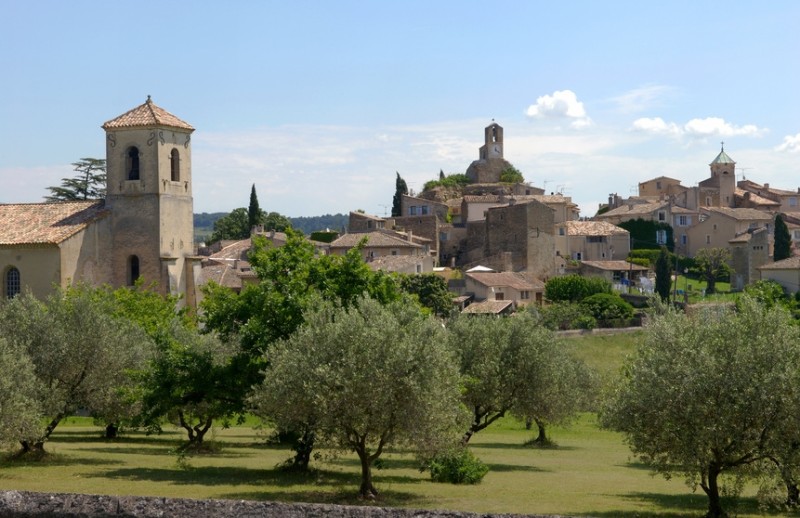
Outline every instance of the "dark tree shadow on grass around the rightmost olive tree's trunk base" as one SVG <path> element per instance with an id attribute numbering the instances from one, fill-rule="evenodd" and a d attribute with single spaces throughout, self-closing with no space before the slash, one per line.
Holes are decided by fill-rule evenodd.
<path id="1" fill-rule="evenodd" d="M 668 495 L 662 493 L 638 493 L 632 492 L 624 495 L 619 495 L 621 498 L 644 503 L 650 506 L 660 508 L 662 511 L 654 513 L 659 518 L 683 518 L 686 516 L 704 516 L 708 511 L 708 497 L 704 493 L 683 494 L 683 495 Z M 722 498 L 722 507 L 731 515 L 738 514 L 749 515 L 765 515 L 765 516 L 785 516 L 784 513 L 774 510 L 773 512 L 759 509 L 758 501 L 755 498 Z M 647 513 L 642 511 L 605 511 L 605 512 L 592 512 L 589 513 L 597 518 L 638 518 L 646 516 Z"/>

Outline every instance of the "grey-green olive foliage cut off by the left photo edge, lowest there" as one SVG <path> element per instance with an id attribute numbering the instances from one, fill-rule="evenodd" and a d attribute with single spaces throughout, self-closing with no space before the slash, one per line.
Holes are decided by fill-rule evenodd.
<path id="1" fill-rule="evenodd" d="M 0 445 L 35 437 L 42 416 L 39 385 L 25 350 L 0 336 Z"/>

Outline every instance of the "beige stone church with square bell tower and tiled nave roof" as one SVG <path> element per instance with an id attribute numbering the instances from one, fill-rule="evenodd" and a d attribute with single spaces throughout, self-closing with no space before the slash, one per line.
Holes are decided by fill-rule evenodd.
<path id="1" fill-rule="evenodd" d="M 2 296 L 142 279 L 194 305 L 194 128 L 149 96 L 102 128 L 105 200 L 0 204 Z"/>

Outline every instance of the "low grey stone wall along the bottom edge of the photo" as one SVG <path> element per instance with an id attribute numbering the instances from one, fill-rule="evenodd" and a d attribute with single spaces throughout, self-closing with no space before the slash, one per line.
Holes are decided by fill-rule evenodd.
<path id="1" fill-rule="evenodd" d="M 285 504 L 249 500 L 190 500 L 30 491 L 0 492 L 3 518 L 545 518 L 543 515 L 473 514 L 386 507 Z M 553 518 L 553 517 L 549 517 Z"/>

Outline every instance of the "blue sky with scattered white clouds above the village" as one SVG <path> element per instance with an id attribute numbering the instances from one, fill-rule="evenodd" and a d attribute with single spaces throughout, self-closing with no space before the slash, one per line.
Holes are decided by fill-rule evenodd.
<path id="1" fill-rule="evenodd" d="M 800 188 L 800 2 L 0 0 L 0 203 L 105 157 L 153 102 L 196 128 L 195 212 L 391 212 L 494 120 L 526 181 L 592 216 L 724 142 Z"/>

